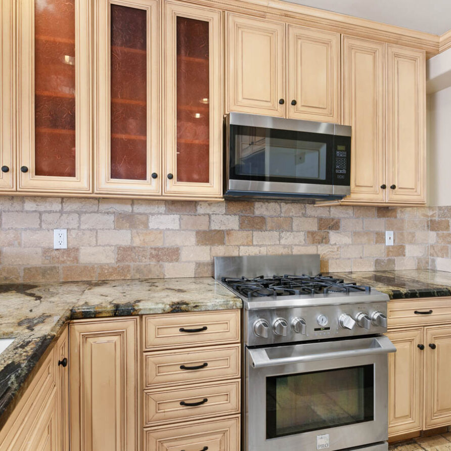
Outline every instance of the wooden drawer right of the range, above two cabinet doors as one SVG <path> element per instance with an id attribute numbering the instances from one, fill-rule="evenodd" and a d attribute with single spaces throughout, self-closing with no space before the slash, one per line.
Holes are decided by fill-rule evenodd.
<path id="1" fill-rule="evenodd" d="M 451 322 L 451 298 L 403 299 L 388 303 L 388 327 Z"/>

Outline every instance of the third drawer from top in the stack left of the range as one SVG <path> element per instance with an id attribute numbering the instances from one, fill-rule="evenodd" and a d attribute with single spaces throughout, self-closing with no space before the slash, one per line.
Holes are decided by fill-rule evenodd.
<path id="1" fill-rule="evenodd" d="M 144 409 L 145 426 L 239 414 L 240 379 L 146 391 Z"/>

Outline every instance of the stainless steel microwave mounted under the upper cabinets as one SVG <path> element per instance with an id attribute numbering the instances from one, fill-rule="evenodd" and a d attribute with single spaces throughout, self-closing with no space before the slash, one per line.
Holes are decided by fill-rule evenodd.
<path id="1" fill-rule="evenodd" d="M 225 197 L 342 199 L 350 194 L 351 127 L 230 113 Z"/>

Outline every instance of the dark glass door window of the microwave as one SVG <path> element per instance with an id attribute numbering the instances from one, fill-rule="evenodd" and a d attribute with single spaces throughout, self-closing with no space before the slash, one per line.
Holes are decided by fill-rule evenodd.
<path id="1" fill-rule="evenodd" d="M 241 125 L 231 133 L 231 178 L 331 184 L 333 136 Z"/>

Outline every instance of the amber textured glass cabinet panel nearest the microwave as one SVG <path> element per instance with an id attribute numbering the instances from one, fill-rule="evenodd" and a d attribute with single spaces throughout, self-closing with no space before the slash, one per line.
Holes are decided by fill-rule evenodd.
<path id="1" fill-rule="evenodd" d="M 209 22 L 177 17 L 177 181 L 210 179 Z"/>

